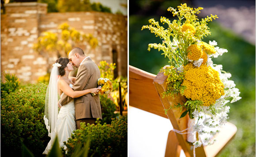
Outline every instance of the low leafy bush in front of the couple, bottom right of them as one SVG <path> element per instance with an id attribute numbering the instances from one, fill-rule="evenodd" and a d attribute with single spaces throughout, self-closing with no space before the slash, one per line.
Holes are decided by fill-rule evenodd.
<path id="1" fill-rule="evenodd" d="M 71 138 L 68 139 L 68 142 L 65 143 L 68 150 L 65 156 L 70 157 L 78 143 L 84 145 L 87 139 L 90 139 L 89 156 L 126 157 L 128 148 L 127 128 L 127 116 L 121 116 L 119 119 L 113 120 L 111 125 L 85 125 L 85 123 L 82 123 L 81 128 L 76 130 Z"/>

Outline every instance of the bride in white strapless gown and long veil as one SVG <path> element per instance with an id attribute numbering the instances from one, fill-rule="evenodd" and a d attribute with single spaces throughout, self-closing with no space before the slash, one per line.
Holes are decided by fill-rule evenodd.
<path id="1" fill-rule="evenodd" d="M 98 94 L 99 92 L 98 88 L 73 91 L 72 85 L 75 83 L 75 77 L 68 77 L 72 70 L 73 66 L 68 58 L 58 58 L 55 64 L 53 64 L 45 96 L 44 116 L 45 125 L 51 140 L 46 146 L 43 154 L 49 153 L 56 135 L 58 136 L 59 145 L 61 147 L 64 146 L 63 142 L 68 141 L 72 132 L 76 130 L 74 101 L 69 102 L 67 105 L 59 106 L 60 112 L 58 114 L 58 95 L 61 97 L 65 93 L 72 98 L 78 98 L 82 95 L 89 93 Z M 64 146 L 64 149 L 66 149 L 66 146 Z"/>

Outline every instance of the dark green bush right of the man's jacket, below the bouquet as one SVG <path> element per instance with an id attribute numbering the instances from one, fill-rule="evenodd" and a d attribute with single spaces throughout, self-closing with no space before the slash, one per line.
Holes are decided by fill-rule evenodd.
<path id="1" fill-rule="evenodd" d="M 112 118 L 119 115 L 118 113 L 114 113 L 116 110 L 116 105 L 107 97 L 107 95 L 100 95 L 100 102 L 102 107 L 102 120 L 100 123 L 111 124 Z"/>

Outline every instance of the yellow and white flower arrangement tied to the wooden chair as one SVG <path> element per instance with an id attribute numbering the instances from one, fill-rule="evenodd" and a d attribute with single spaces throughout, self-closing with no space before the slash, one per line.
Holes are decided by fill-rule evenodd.
<path id="1" fill-rule="evenodd" d="M 230 107 L 226 103 L 241 99 L 236 84 L 229 80 L 231 74 L 211 60 L 227 50 L 217 47 L 216 41 L 202 41 L 203 37 L 211 34 L 207 22 L 218 18 L 217 15 L 211 15 L 199 21 L 196 14 L 202 9 L 188 7 L 187 4 L 181 4 L 177 9 L 169 7 L 167 11 L 178 19 L 171 22 L 161 17 L 160 22 L 167 24 L 167 29 L 154 18 L 149 20 L 150 25 L 142 27 L 142 30 L 149 29 L 162 39 L 162 43 L 148 44 L 148 51 L 151 48 L 162 50 L 162 55 L 169 58 L 170 65 L 160 69 L 167 76 L 166 91 L 162 95 L 165 97 L 181 93 L 187 99 L 184 104 L 176 104 L 174 108 L 181 111 L 187 109 L 180 118 L 189 115 L 187 141 L 195 148 L 202 143 L 206 146 L 215 142 L 212 137 L 228 118 Z"/>

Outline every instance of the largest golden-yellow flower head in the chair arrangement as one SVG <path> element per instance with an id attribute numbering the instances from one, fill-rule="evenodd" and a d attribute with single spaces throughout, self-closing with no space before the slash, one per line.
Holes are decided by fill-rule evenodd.
<path id="1" fill-rule="evenodd" d="M 224 85 L 219 78 L 219 74 L 211 66 L 193 66 L 189 63 L 184 66 L 185 79 L 181 86 L 186 89 L 182 93 L 191 100 L 201 100 L 203 106 L 210 106 L 224 95 Z"/>

